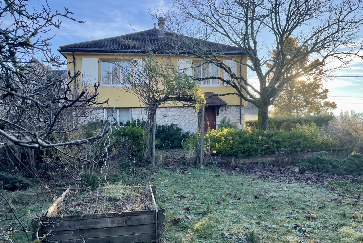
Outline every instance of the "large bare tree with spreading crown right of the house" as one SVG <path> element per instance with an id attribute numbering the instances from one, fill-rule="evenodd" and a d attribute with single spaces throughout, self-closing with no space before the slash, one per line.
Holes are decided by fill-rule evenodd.
<path id="1" fill-rule="evenodd" d="M 359 36 L 362 0 L 173 0 L 172 5 L 176 11 L 162 13 L 167 27 L 184 41 L 165 38 L 165 42 L 180 53 L 223 68 L 231 80 L 204 79 L 220 79 L 236 89 L 229 94 L 256 105 L 259 127 L 264 130 L 269 128 L 269 106 L 291 80 L 312 75 L 331 78 L 334 70 L 347 67 L 352 58 L 363 58 Z M 152 14 L 159 15 L 160 11 Z M 208 49 L 200 41 L 190 42 L 186 35 L 239 47 L 249 61 Z M 297 40 L 294 50 L 289 49 L 289 37 Z M 233 73 L 220 57 L 246 66 L 256 75 L 258 84 Z"/>

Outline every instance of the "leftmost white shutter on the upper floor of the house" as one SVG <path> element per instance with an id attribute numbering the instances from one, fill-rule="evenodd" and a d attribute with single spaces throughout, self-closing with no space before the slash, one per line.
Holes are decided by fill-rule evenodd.
<path id="1" fill-rule="evenodd" d="M 98 84 L 98 59 L 81 58 L 81 62 L 82 85 Z"/>

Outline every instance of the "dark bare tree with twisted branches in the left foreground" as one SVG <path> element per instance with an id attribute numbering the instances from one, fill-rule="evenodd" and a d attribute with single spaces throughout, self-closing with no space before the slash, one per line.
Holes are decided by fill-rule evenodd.
<path id="1" fill-rule="evenodd" d="M 5 145 L 11 142 L 26 149 L 58 151 L 60 146 L 81 145 L 102 138 L 108 131 L 107 122 L 92 137 L 52 142 L 52 136 L 66 136 L 76 129 L 76 124 L 69 127 L 69 123 L 62 121 L 67 111 L 72 110 L 72 114 L 76 109 L 93 108 L 102 103 L 96 100 L 97 85 L 93 90 L 75 88 L 79 73 L 69 72 L 64 79 L 38 64 L 28 64 L 27 57 L 36 53 L 41 53 L 53 67 L 65 64 L 59 55 L 50 52 L 49 41 L 53 37 L 44 36 L 50 28 L 60 28 L 59 18 L 77 21 L 66 8 L 64 13 L 53 13 L 48 5 L 40 11 L 29 11 L 28 1 L 0 3 L 0 17 L 11 20 L 9 25 L 3 22 L 0 26 L 0 138 Z"/>

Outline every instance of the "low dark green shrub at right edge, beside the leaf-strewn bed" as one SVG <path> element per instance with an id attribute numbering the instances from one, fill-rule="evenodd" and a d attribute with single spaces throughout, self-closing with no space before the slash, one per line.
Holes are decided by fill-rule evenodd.
<path id="1" fill-rule="evenodd" d="M 299 163 L 315 172 L 363 176 L 363 154 L 352 153 L 345 159 L 337 159 L 329 157 L 326 151 L 321 151 L 299 160 Z"/>

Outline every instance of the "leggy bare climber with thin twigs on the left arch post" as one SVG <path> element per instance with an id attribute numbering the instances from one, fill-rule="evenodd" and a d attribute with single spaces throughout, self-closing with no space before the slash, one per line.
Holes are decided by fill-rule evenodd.
<path id="1" fill-rule="evenodd" d="M 125 87 L 122 89 L 133 93 L 138 97 L 140 105 L 146 108 L 144 127 L 146 146 L 143 151 L 143 162 L 152 159 L 154 166 L 156 109 L 167 102 L 172 102 L 179 105 L 194 105 L 195 109 L 199 110 L 200 104 L 205 102 L 204 94 L 187 75 L 178 73 L 178 68 L 170 56 L 157 56 L 150 51 L 143 59 L 135 60 L 133 56 L 127 58 L 132 62 L 132 69 L 131 66 L 122 66 L 122 62 L 116 60 L 113 64 L 119 67 L 121 75 L 113 76 L 113 79 L 117 80 L 116 83 L 124 84 Z M 122 59 L 125 59 L 125 56 Z"/>

